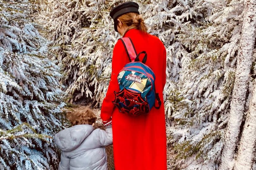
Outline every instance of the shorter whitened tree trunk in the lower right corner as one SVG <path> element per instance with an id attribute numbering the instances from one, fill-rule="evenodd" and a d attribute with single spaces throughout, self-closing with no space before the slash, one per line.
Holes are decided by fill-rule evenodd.
<path id="1" fill-rule="evenodd" d="M 242 132 L 240 148 L 238 150 L 237 160 L 235 162 L 235 170 L 250 170 L 252 168 L 254 158 L 254 145 L 256 141 L 256 81 L 249 110 Z"/>

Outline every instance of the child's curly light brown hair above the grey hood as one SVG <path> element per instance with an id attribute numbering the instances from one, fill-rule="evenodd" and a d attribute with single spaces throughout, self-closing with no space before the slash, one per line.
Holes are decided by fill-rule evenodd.
<path id="1" fill-rule="evenodd" d="M 85 108 L 82 110 L 77 110 L 73 114 L 70 114 L 68 119 L 73 126 L 82 124 L 92 125 L 93 123 L 95 123 L 97 117 L 91 109 Z"/>

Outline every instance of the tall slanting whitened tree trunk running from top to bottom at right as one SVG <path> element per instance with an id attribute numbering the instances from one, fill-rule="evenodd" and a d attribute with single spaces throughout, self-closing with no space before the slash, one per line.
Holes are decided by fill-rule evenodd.
<path id="1" fill-rule="evenodd" d="M 220 170 L 232 169 L 234 165 L 234 151 L 244 113 L 248 79 L 252 65 L 252 53 L 255 41 L 256 0 L 245 0 L 244 7 L 242 37 L 237 56 L 235 83 L 230 103 L 229 121 L 226 128 Z"/>

